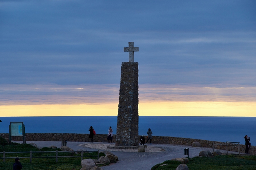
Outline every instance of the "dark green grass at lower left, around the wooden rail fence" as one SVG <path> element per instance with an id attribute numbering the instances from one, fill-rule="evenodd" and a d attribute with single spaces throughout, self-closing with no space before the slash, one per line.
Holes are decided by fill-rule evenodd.
<path id="1" fill-rule="evenodd" d="M 10 145 L 0 145 L 0 152 L 28 152 L 28 151 L 60 151 L 58 149 L 52 149 L 44 147 L 42 149 L 37 149 L 36 147 L 29 144 L 18 144 L 11 143 Z M 97 155 L 98 152 L 84 152 L 83 155 L 93 156 Z M 5 157 L 29 157 L 30 153 L 9 153 L 5 154 Z M 56 156 L 56 153 L 33 153 L 32 156 Z M 58 152 L 58 156 L 81 156 L 80 154 L 75 154 L 72 152 Z M 100 153 L 100 156 L 105 156 L 103 153 Z M 3 154 L 0 154 L 0 157 L 3 158 Z M 84 157 L 84 159 L 97 159 L 97 157 Z M 0 169 L 1 170 L 12 170 L 12 164 L 14 159 L 0 159 Z M 82 168 L 81 157 L 78 158 L 32 158 L 32 163 L 30 163 L 29 158 L 20 158 L 20 163 L 22 164 L 24 170 L 79 170 Z"/>

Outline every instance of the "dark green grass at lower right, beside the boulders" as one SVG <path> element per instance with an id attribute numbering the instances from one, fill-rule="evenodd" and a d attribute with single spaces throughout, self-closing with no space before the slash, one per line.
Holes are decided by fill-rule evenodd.
<path id="1" fill-rule="evenodd" d="M 167 164 L 165 166 L 160 166 Z M 180 162 L 166 160 L 152 170 L 175 170 Z M 214 158 L 194 157 L 187 163 L 189 170 L 256 170 L 256 156 L 220 155 Z"/>

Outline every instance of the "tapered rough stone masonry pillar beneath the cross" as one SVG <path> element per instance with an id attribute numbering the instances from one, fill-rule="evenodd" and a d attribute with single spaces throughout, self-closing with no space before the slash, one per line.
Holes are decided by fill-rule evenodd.
<path id="1" fill-rule="evenodd" d="M 116 146 L 139 145 L 138 62 L 122 62 L 116 127 Z"/>

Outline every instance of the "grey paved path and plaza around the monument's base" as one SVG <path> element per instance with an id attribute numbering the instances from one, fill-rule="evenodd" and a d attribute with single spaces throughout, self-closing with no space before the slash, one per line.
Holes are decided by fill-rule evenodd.
<path id="1" fill-rule="evenodd" d="M 18 142 L 22 143 L 22 142 Z M 39 142 L 39 141 L 27 141 L 26 143 L 35 143 L 38 148 L 49 147 L 51 145 L 55 145 L 58 148 L 61 147 L 61 142 Z M 138 150 L 118 150 L 118 149 L 104 149 L 103 145 L 115 145 L 109 143 L 100 143 L 100 142 L 67 142 L 67 146 L 71 149 L 77 151 L 81 149 L 85 150 L 95 150 L 100 149 L 100 151 L 107 150 L 118 156 L 119 161 L 115 164 L 110 164 L 109 166 L 101 167 L 102 170 L 150 170 L 152 166 L 162 163 L 165 160 L 173 159 L 173 158 L 183 158 L 187 157 L 184 155 L 184 148 L 186 146 L 183 145 L 168 145 L 168 144 L 152 144 L 147 145 L 148 149 L 145 149 L 145 152 L 139 153 Z M 164 152 L 159 152 L 159 150 L 164 149 Z M 211 148 L 195 148 L 189 147 L 189 157 L 193 158 L 199 155 L 199 152 L 202 150 L 211 151 Z M 221 152 L 225 153 L 226 151 L 221 150 Z M 234 152 L 235 153 L 235 152 Z"/>

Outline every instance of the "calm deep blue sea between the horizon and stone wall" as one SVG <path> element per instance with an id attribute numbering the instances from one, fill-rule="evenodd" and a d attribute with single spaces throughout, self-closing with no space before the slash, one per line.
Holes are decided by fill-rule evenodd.
<path id="1" fill-rule="evenodd" d="M 9 133 L 10 122 L 24 122 L 26 133 L 88 133 L 93 126 L 98 134 L 107 134 L 112 126 L 116 134 L 116 116 L 1 117 L 0 133 Z M 179 117 L 140 116 L 139 135 L 151 128 L 155 136 L 195 138 L 220 142 L 240 142 L 244 136 L 256 145 L 256 117 Z"/>

